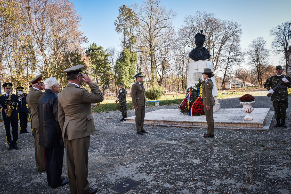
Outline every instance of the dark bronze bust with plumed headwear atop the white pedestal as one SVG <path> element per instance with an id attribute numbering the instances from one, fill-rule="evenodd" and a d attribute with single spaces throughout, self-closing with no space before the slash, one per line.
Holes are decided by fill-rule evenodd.
<path id="1" fill-rule="evenodd" d="M 189 53 L 189 57 L 192 58 L 193 60 L 205 60 L 211 57 L 209 51 L 205 47 L 203 47 L 203 43 L 205 42 L 206 39 L 205 35 L 202 33 L 203 30 L 201 30 L 201 33 L 197 33 L 195 35 L 196 48 Z"/>

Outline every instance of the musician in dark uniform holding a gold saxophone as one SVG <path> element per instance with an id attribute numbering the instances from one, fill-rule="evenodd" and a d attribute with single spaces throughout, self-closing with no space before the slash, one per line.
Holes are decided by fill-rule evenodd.
<path id="1" fill-rule="evenodd" d="M 15 149 L 18 148 L 18 145 L 17 145 L 18 120 L 17 120 L 16 106 L 20 106 L 20 102 L 18 100 L 17 94 L 11 94 L 12 86 L 13 85 L 10 82 L 4 83 L 2 87 L 4 88 L 5 94 L 0 95 L 0 102 L 2 106 L 0 110 L 3 115 L 6 141 L 9 145 L 8 150 L 11 150 L 13 148 Z M 12 128 L 13 140 L 11 139 L 11 135 L 10 135 L 10 124 Z"/>

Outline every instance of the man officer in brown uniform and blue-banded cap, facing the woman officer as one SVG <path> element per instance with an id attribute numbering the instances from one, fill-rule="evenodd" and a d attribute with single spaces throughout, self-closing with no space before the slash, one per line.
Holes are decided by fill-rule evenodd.
<path id="1" fill-rule="evenodd" d="M 135 76 L 136 82 L 131 88 L 132 104 L 135 111 L 135 125 L 136 133 L 143 135 L 148 133 L 143 129 L 143 120 L 145 118 L 145 88 L 143 87 L 143 75 L 142 72 L 137 73 Z"/>

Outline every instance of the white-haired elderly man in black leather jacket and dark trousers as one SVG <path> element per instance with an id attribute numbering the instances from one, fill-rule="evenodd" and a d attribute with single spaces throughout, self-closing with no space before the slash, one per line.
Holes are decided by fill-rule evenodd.
<path id="1" fill-rule="evenodd" d="M 64 147 L 62 131 L 58 123 L 58 92 L 60 86 L 56 78 L 45 80 L 45 93 L 38 101 L 40 145 L 45 148 L 47 183 L 52 188 L 63 186 L 68 180 L 61 178 Z"/>

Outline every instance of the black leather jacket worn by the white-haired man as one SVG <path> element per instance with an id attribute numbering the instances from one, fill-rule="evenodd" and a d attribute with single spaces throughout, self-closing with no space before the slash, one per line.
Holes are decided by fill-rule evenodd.
<path id="1" fill-rule="evenodd" d="M 38 120 L 40 145 L 60 147 L 62 131 L 58 123 L 58 95 L 50 89 L 45 89 L 38 101 Z"/>

